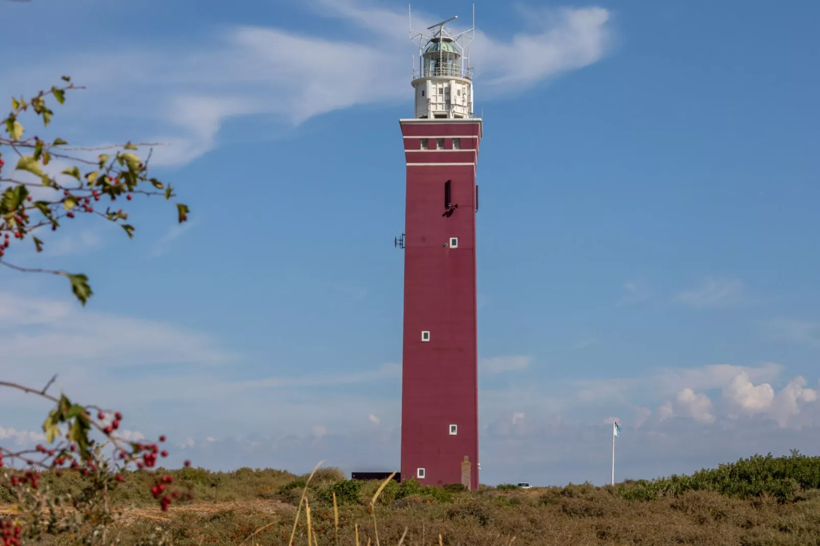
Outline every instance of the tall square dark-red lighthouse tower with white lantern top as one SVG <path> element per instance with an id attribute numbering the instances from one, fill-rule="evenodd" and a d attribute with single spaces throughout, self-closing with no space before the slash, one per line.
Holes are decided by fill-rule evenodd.
<path id="1" fill-rule="evenodd" d="M 476 160 L 469 41 L 445 24 L 412 33 L 415 116 L 403 236 L 402 479 L 477 489 Z M 475 19 L 475 18 L 474 18 Z M 474 25 L 475 26 L 475 25 Z"/>

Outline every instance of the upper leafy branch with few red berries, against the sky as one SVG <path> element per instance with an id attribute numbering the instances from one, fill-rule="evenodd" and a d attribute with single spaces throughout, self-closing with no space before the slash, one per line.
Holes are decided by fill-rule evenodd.
<path id="1" fill-rule="evenodd" d="M 75 296 L 85 305 L 92 295 L 86 275 L 16 266 L 7 262 L 11 244 L 30 236 L 37 252 L 41 252 L 43 240 L 37 234 L 42 228 L 50 227 L 56 231 L 63 219 L 71 220 L 78 213 L 112 221 L 133 238 L 134 226 L 125 223 L 128 213 L 112 204 L 103 211 L 103 205 L 98 202 L 113 203 L 117 198 L 131 201 L 134 195 L 163 195 L 170 200 L 175 194 L 170 184 L 148 176 L 149 147 L 152 144 L 129 142 L 101 148 L 77 148 L 68 146 L 60 138 L 48 143 L 37 136 L 23 137 L 25 129 L 20 122 L 23 113 L 34 111 L 43 119 L 43 125 L 48 126 L 54 112 L 48 108 L 46 99 L 53 98 L 62 104 L 67 90 L 83 89 L 72 84 L 68 76 L 63 76 L 62 80 L 66 82 L 62 87 L 40 91 L 29 101 L 11 98 L 11 113 L 3 122 L 7 137 L 0 136 L 0 264 L 17 271 L 65 276 L 71 281 Z M 134 153 L 139 148 L 149 148 L 145 160 Z M 94 159 L 81 157 L 78 152 L 101 153 Z M 59 173 L 59 178 L 49 174 L 46 168 L 54 159 L 69 164 Z M 15 162 L 13 167 L 12 162 Z M 188 219 L 189 209 L 182 203 L 175 204 L 181 224 Z"/>

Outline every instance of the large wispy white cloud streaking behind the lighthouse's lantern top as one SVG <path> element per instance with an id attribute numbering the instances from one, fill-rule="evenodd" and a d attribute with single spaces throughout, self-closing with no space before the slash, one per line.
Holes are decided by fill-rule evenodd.
<path id="1" fill-rule="evenodd" d="M 173 56 L 157 38 L 144 48 L 105 43 L 97 50 L 66 52 L 47 65 L 12 66 L 4 80 L 17 92 L 42 85 L 53 74 L 69 73 L 87 87 L 75 93 L 85 95 L 75 100 L 93 103 L 100 122 L 115 111 L 122 116 L 121 105 L 127 103 L 134 122 L 144 124 L 139 135 L 143 141 L 170 143 L 155 149 L 154 165 L 181 165 L 208 152 L 216 146 L 222 122 L 231 116 L 272 115 L 298 124 L 355 105 L 407 101 L 413 50 L 403 11 L 350 0 L 316 0 L 307 7 L 368 32 L 351 34 L 353 39 L 322 39 L 235 26 L 204 43 L 175 45 Z M 520 93 L 588 66 L 607 52 L 608 11 L 593 7 L 540 13 L 539 28 L 531 34 L 503 40 L 476 32 L 471 56 L 471 64 L 479 67 L 476 97 Z M 416 17 L 423 28 L 439 16 Z M 373 47 L 374 34 L 378 48 Z M 65 112 L 66 124 L 71 116 L 70 110 Z M 89 123 L 93 120 L 87 118 L 85 125 Z"/>

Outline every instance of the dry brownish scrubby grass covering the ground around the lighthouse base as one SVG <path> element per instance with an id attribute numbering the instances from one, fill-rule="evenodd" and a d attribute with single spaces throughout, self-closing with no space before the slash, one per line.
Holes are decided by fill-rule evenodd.
<path id="1" fill-rule="evenodd" d="M 200 479 L 211 475 L 196 472 Z M 189 506 L 130 510 L 115 530 L 122 542 L 133 544 L 161 529 L 183 546 L 820 544 L 818 489 L 803 489 L 787 501 L 707 490 L 640 500 L 625 498 L 629 485 L 482 488 L 436 498 L 428 490 L 400 495 L 398 486 L 386 481 L 349 489 L 332 470 L 312 477 L 249 469 L 213 476 L 221 478 L 208 485 L 210 497 Z"/>

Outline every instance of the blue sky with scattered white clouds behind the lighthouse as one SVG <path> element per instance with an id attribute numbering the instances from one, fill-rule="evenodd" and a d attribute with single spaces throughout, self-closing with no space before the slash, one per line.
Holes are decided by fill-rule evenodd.
<path id="1" fill-rule="evenodd" d="M 469 2 L 413 4 L 414 25 Z M 816 2 L 476 2 L 481 480 L 816 453 Z M 166 434 L 169 464 L 399 464 L 407 4 L 0 2 L 0 95 L 70 74 L 71 143 L 168 142 L 191 220 L 76 221 L 2 271 L 0 372 Z M 36 22 L 38 38 L 30 29 Z M 22 45 L 25 44 L 25 48 Z M 40 131 L 40 130 L 38 130 Z M 46 132 L 41 132 L 46 134 Z M 4 394 L 2 441 L 47 407 Z M 12 430 L 13 429 L 13 430 Z"/>

